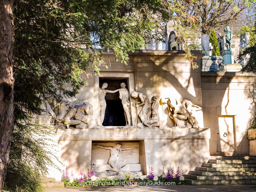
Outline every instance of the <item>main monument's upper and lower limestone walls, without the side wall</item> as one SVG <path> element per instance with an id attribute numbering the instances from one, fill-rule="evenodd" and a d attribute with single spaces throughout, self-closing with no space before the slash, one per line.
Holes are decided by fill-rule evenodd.
<path id="1" fill-rule="evenodd" d="M 200 64 L 203 56 L 199 51 L 194 52 Z M 184 59 L 183 51 L 145 51 L 140 50 L 130 54 L 128 65 L 124 65 L 114 58 L 111 53 L 103 53 L 102 59 L 108 68 L 100 64 L 100 76 L 90 76 L 87 84 L 81 88 L 76 98 L 70 101 L 86 100 L 93 106 L 93 116 L 96 124 L 99 121 L 99 86 L 104 80 L 124 80 L 129 92 L 143 91 L 149 99 L 155 94 L 160 98 L 191 100 L 202 107 L 201 71 L 192 69 L 191 64 Z M 89 69 L 92 72 L 92 68 Z M 111 87 L 111 85 L 109 85 Z M 110 93 L 108 93 L 110 94 Z M 108 95 L 107 95 L 108 96 Z M 106 96 L 106 97 L 107 97 Z M 127 146 L 138 147 L 129 153 L 124 153 L 124 159 L 129 164 L 140 164 L 143 174 L 148 173 L 149 166 L 154 168 L 158 175 L 164 167 L 172 167 L 183 174 L 194 170 L 209 159 L 210 129 L 204 129 L 203 111 L 199 110 L 195 116 L 199 122 L 199 129 L 172 128 L 174 123 L 167 113 L 167 105 L 160 105 L 158 113 L 163 125 L 167 129 L 138 129 L 136 124 L 140 121 L 135 106 L 135 99 L 130 97 L 132 127 L 95 127 L 95 129 L 64 129 L 58 131 L 54 139 L 58 145 L 58 157 L 63 164 L 62 169 L 68 166 L 70 170 L 79 174 L 85 173 L 91 167 L 98 167 L 102 162 L 104 166 L 109 159 L 109 150 L 95 148 L 95 143 L 108 143 L 118 141 Z M 115 107 L 115 106 L 113 106 Z M 128 142 L 128 143 L 127 143 Z M 133 142 L 133 143 L 129 143 Z M 107 145 L 107 144 L 106 144 Z M 125 148 L 124 145 L 124 148 Z M 139 146 L 138 146 L 139 145 Z M 134 147 L 133 146 L 133 147 Z M 135 154 L 136 153 L 136 154 Z M 131 158 L 127 155 L 131 154 Z M 139 160 L 139 162 L 138 162 Z M 95 164 L 95 165 L 93 165 Z M 93 165 L 93 166 L 92 166 Z M 50 170 L 49 176 L 60 179 L 61 172 Z"/>

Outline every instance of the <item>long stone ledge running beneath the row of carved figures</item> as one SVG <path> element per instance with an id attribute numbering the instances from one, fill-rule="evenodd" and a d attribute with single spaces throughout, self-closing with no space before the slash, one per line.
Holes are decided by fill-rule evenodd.
<path id="1" fill-rule="evenodd" d="M 104 129 L 59 129 L 53 140 L 209 140 L 210 129 L 169 128 L 138 129 L 108 127 Z"/>

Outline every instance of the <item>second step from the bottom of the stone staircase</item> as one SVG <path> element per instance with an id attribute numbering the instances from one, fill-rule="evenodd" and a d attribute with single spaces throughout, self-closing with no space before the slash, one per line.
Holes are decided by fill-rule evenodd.
<path id="1" fill-rule="evenodd" d="M 186 179 L 191 180 L 256 180 L 256 176 L 248 176 L 248 175 L 218 175 L 218 176 L 199 176 L 199 175 L 191 175 L 185 174 L 183 175 Z"/>

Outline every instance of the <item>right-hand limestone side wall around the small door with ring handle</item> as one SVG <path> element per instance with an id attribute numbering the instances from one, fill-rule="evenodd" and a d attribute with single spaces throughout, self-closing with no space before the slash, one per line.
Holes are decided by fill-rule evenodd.
<path id="1" fill-rule="evenodd" d="M 255 75 L 241 72 L 202 72 L 201 82 L 204 127 L 211 129 L 210 154 L 249 155 L 246 125 L 255 111 Z M 234 150 L 231 150 L 232 147 L 230 147 L 229 151 L 228 148 L 220 150 L 225 142 L 234 143 L 232 137 L 224 142 L 223 133 L 220 134 L 227 127 L 229 129 L 228 135 L 233 132 L 232 120 L 230 117 L 223 119 L 222 117 L 225 117 L 225 115 L 234 115 L 235 118 L 236 146 Z M 228 137 L 226 138 L 228 139 Z M 219 145 L 221 142 L 222 146 Z"/>

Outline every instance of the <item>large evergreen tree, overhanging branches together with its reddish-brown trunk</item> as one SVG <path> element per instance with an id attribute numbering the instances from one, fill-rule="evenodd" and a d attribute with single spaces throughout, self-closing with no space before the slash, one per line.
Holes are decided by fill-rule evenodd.
<path id="1" fill-rule="evenodd" d="M 22 134 L 26 126 L 20 122 L 40 114 L 46 100 L 75 96 L 86 83 L 89 67 L 99 73 L 101 51 L 113 51 L 116 60 L 127 64 L 128 52 L 140 49 L 160 20 L 173 19 L 170 12 L 188 20 L 182 10 L 162 0 L 4 0 L 0 7 L 0 60 L 5 61 L 0 71 L 0 113 L 5 119 L 0 125 L 0 188 L 10 164 L 13 128 L 16 136 Z M 193 55 L 185 51 L 193 63 Z"/>

